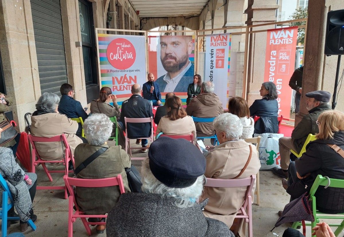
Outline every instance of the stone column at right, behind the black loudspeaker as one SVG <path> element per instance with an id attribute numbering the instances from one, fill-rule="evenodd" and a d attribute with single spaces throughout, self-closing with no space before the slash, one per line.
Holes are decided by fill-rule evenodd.
<path id="1" fill-rule="evenodd" d="M 308 5 L 308 23 L 305 39 L 304 69 L 302 80 L 302 96 L 300 113 L 295 116 L 295 126 L 307 114 L 305 93 L 325 90 L 333 94 L 334 79 L 336 74 L 337 56 L 325 56 L 324 45 L 326 38 L 327 12 L 344 8 L 343 1 L 313 0 Z M 342 57 L 343 58 L 343 57 Z M 340 75 L 344 69 L 344 59 L 340 67 Z M 344 111 L 344 89 L 337 95 L 336 110 Z M 330 101 L 332 103 L 332 99 Z"/>

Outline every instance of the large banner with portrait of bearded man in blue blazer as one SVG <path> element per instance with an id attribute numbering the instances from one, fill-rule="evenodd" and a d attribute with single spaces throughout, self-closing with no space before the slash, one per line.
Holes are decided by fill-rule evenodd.
<path id="1" fill-rule="evenodd" d="M 194 48 L 194 35 L 148 37 L 149 72 L 154 74 L 162 95 L 174 92 L 186 102 L 195 71 Z"/>

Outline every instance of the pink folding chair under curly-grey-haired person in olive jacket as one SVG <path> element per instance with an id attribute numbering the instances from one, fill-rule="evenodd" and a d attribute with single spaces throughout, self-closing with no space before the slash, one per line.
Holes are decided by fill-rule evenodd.
<path id="1" fill-rule="evenodd" d="M 125 193 L 122 176 L 119 174 L 117 177 L 112 178 L 100 178 L 100 179 L 84 179 L 84 178 L 71 178 L 68 175 L 63 176 L 65 184 L 69 191 L 68 199 L 68 237 L 73 237 L 73 223 L 77 218 L 81 218 L 85 229 L 88 235 L 91 235 L 91 229 L 89 225 L 106 225 L 105 222 L 88 222 L 86 218 L 107 218 L 107 215 L 86 215 L 82 210 L 80 210 L 76 199 L 74 187 L 110 187 L 110 186 L 119 186 L 119 190 L 122 193 Z M 74 208 L 75 206 L 75 212 Z"/>

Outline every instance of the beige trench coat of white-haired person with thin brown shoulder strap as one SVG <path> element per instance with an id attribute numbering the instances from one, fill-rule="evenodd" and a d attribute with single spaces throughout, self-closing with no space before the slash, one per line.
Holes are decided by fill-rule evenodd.
<path id="1" fill-rule="evenodd" d="M 251 161 L 244 173 L 238 178 L 247 178 L 256 175 L 260 168 L 256 146 L 244 140 L 225 142 L 215 147 L 206 156 L 205 176 L 208 178 L 231 179 L 236 177 L 244 168 L 250 154 L 249 146 L 252 147 Z M 223 221 L 231 227 L 234 217 L 239 208 L 244 204 L 244 197 L 247 187 L 236 188 L 214 188 L 204 187 L 204 194 L 200 197 L 200 202 L 209 198 L 205 206 L 204 215 Z M 252 198 L 255 187 L 252 189 Z M 240 224 L 240 236 L 245 236 L 243 223 Z M 246 230 L 246 229 L 245 229 Z"/>

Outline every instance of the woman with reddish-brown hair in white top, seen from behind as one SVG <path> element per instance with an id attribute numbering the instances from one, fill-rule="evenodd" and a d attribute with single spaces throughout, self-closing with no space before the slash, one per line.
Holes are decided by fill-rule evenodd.
<path id="1" fill-rule="evenodd" d="M 253 131 L 255 130 L 255 122 L 250 117 L 250 109 L 247 101 L 243 97 L 232 97 L 228 102 L 228 112 L 238 116 L 241 124 L 243 124 L 243 134 L 239 138 L 245 139 L 252 137 Z"/>

